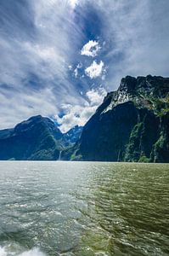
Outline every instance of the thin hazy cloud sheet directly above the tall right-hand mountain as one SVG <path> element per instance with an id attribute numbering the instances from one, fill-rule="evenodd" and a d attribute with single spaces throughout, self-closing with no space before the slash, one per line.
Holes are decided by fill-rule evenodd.
<path id="1" fill-rule="evenodd" d="M 99 1 L 98 8 L 104 17 L 108 88 L 115 89 L 128 74 L 168 76 L 168 1 Z"/>

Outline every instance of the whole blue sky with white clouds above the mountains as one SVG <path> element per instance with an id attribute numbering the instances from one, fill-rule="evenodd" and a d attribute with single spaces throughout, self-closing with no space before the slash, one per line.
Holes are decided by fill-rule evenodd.
<path id="1" fill-rule="evenodd" d="M 168 0 L 1 0 L 0 129 L 85 125 L 127 75 L 169 76 Z"/>

